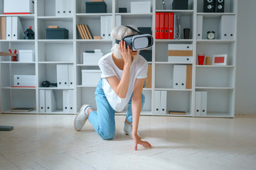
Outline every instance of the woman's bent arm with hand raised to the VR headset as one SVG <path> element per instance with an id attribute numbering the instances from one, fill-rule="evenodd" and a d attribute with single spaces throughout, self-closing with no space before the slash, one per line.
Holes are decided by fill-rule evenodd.
<path id="1" fill-rule="evenodd" d="M 119 81 L 117 77 L 107 77 L 107 81 L 109 82 L 111 88 L 120 98 L 125 98 L 128 91 L 129 86 L 129 74 L 130 74 L 130 67 L 132 64 L 132 56 L 129 50 L 129 46 L 126 48 L 125 41 L 121 41 L 119 43 L 119 49 L 121 51 L 121 55 L 124 60 L 124 70 L 122 73 L 122 78 Z"/>

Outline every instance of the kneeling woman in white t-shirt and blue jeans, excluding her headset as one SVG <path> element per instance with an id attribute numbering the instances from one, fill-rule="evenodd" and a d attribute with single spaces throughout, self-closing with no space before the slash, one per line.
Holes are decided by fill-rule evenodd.
<path id="1" fill-rule="evenodd" d="M 74 121 L 74 128 L 79 131 L 89 118 L 98 135 L 103 140 L 111 140 L 115 131 L 114 113 L 123 111 L 128 104 L 124 132 L 134 140 L 135 150 L 138 144 L 151 148 L 149 142 L 142 141 L 137 132 L 145 98 L 142 90 L 148 64 L 139 51 L 130 50 L 122 41 L 125 36 L 136 34 L 125 26 L 112 30 L 111 37 L 121 42 L 99 61 L 102 76 L 95 91 L 97 112 L 89 105 L 83 105 Z"/>

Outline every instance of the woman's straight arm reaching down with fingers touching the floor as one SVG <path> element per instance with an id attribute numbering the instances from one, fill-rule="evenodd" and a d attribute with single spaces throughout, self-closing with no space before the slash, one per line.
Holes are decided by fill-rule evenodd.
<path id="1" fill-rule="evenodd" d="M 137 135 L 139 126 L 139 115 L 142 110 L 142 90 L 145 79 L 136 79 L 134 84 L 134 94 L 132 96 L 132 138 L 134 140 L 134 150 L 137 150 L 137 145 L 144 145 L 144 147 L 150 147 L 149 142 L 142 141 Z"/>

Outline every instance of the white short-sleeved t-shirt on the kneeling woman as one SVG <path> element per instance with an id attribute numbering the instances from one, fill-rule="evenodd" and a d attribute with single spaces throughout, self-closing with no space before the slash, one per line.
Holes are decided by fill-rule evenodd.
<path id="1" fill-rule="evenodd" d="M 106 77 L 115 76 L 117 79 L 119 79 L 119 81 L 121 81 L 122 78 L 123 70 L 119 69 L 116 64 L 114 64 L 112 52 L 100 59 L 99 67 L 102 72 L 102 89 L 107 97 L 107 101 L 110 103 L 110 106 L 114 109 L 114 111 L 123 111 L 132 96 L 132 92 L 134 91 L 135 80 L 144 79 L 147 76 L 148 64 L 146 60 L 141 55 L 134 57 L 130 67 L 129 86 L 126 98 L 119 98 L 119 96 L 117 96 L 110 86 L 107 79 L 105 79 Z"/>

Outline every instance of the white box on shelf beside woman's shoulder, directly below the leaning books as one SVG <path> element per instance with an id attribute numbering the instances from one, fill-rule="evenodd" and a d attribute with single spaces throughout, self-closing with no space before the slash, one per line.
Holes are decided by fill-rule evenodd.
<path id="1" fill-rule="evenodd" d="M 97 65 L 102 56 L 102 52 L 82 52 L 83 64 Z"/>

